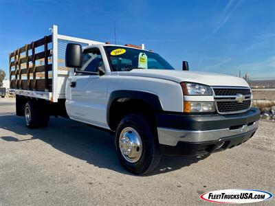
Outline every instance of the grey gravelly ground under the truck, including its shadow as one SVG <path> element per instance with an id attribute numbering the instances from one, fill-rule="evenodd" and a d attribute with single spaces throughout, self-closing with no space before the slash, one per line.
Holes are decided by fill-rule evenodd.
<path id="1" fill-rule="evenodd" d="M 133 176 L 109 133 L 63 118 L 29 130 L 14 106 L 0 99 L 0 205 L 207 205 L 199 195 L 212 190 L 275 192 L 275 122 L 262 121 L 241 146 L 206 159 L 164 157 L 150 176 Z"/>

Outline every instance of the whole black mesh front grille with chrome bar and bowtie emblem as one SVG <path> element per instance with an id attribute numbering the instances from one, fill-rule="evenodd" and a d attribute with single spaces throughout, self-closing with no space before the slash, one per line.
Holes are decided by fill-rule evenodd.
<path id="1" fill-rule="evenodd" d="M 218 113 L 240 113 L 250 108 L 252 101 L 250 88 L 212 87 L 212 89 L 214 91 L 214 100 Z M 243 97 L 241 95 L 243 95 Z M 240 100 L 240 96 L 243 99 Z"/>

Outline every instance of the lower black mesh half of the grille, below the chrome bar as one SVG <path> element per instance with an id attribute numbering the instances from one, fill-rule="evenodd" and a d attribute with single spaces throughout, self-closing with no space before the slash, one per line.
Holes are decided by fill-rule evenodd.
<path id="1" fill-rule="evenodd" d="M 245 111 L 250 108 L 250 100 L 239 102 L 217 102 L 217 109 L 220 113 L 232 113 L 236 111 Z"/>

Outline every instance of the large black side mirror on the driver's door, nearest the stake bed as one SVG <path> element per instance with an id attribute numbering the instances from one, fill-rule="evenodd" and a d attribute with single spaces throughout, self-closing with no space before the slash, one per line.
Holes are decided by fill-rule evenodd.
<path id="1" fill-rule="evenodd" d="M 82 67 L 82 47 L 81 45 L 69 43 L 66 48 L 66 67 Z"/>

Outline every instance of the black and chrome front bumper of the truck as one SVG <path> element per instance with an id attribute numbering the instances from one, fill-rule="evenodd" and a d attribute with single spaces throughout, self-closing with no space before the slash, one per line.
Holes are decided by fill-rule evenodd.
<path id="1" fill-rule="evenodd" d="M 208 155 L 232 148 L 254 135 L 259 126 L 256 108 L 234 115 L 159 113 L 157 135 L 167 155 Z"/>

